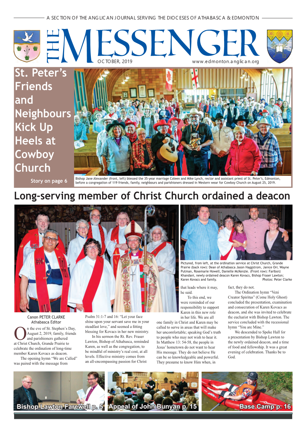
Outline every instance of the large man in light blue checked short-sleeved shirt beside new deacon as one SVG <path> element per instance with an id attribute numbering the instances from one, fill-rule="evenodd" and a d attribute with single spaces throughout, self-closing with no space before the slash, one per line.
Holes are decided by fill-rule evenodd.
<path id="1" fill-rule="evenodd" d="M 185 260 L 219 260 L 218 225 L 209 219 L 209 207 L 198 207 L 198 218 L 187 222 L 182 232 Z"/>

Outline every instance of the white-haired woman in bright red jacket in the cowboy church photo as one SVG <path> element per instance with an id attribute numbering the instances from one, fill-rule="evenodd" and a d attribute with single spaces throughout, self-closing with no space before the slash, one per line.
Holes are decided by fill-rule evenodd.
<path id="1" fill-rule="evenodd" d="M 225 174 L 231 177 L 257 175 L 262 158 L 259 147 L 252 139 L 245 137 L 243 127 L 235 127 L 233 133 L 235 141 L 229 148 Z"/>

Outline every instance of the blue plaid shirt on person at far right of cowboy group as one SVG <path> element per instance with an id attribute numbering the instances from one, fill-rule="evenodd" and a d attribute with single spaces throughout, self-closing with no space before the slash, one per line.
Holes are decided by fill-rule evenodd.
<path id="1" fill-rule="evenodd" d="M 279 144 L 274 134 L 272 134 L 270 131 L 268 131 L 266 136 L 262 136 L 260 131 L 255 133 L 253 141 L 256 142 L 262 154 L 262 161 L 260 165 L 261 168 L 274 167 L 277 165 L 278 161 L 282 161 L 282 156 L 280 155 L 279 151 Z M 266 142 L 266 144 L 261 145 L 260 142 Z"/>

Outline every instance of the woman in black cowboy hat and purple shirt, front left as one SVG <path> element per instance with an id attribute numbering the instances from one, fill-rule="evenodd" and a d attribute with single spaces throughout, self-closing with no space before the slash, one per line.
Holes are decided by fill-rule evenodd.
<path id="1" fill-rule="evenodd" d="M 101 153 L 104 175 L 130 175 L 134 169 L 131 142 L 124 129 L 124 122 L 117 120 L 106 126 L 108 136 Z"/>

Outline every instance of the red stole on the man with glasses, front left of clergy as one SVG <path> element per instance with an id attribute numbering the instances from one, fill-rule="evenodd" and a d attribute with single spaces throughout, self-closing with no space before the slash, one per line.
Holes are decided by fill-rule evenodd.
<path id="1" fill-rule="evenodd" d="M 59 249 L 55 248 L 54 252 L 63 278 L 61 295 L 61 313 L 63 313 L 67 312 L 70 278 L 66 258 Z M 34 266 L 39 311 L 40 313 L 50 313 L 51 307 L 47 289 L 46 264 L 43 246 L 38 248 L 34 253 Z"/>

